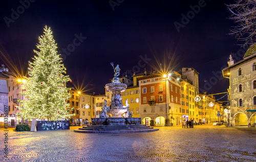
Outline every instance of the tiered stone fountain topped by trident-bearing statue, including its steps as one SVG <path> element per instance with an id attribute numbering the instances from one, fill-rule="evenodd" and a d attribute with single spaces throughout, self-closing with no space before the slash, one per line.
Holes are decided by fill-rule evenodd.
<path id="1" fill-rule="evenodd" d="M 141 133 L 154 132 L 159 129 L 142 125 L 141 118 L 132 118 L 132 113 L 129 111 L 130 104 L 126 101 L 125 106 L 122 104 L 121 92 L 127 88 L 126 84 L 119 81 L 120 75 L 119 65 L 114 67 L 114 78 L 112 83 L 106 84 L 108 91 L 112 92 L 111 105 L 107 106 L 104 100 L 104 107 L 99 118 L 92 118 L 92 125 L 74 130 L 79 133 Z"/>

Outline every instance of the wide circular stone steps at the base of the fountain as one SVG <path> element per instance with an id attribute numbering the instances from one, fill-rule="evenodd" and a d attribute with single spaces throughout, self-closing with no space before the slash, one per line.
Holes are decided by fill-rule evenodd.
<path id="1" fill-rule="evenodd" d="M 122 125 L 122 126 L 112 126 L 112 125 L 88 125 L 87 127 L 79 128 L 74 130 L 74 132 L 79 133 L 142 133 L 142 132 L 154 132 L 159 129 L 154 129 L 153 127 L 146 125 Z"/>

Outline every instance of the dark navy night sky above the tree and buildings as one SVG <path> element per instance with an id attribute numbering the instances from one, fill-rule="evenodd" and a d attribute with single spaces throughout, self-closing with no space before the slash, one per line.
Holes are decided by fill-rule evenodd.
<path id="1" fill-rule="evenodd" d="M 26 2 L 25 7 L 19 1 L 0 2 L 0 63 L 7 65 L 5 56 L 7 66 L 26 70 L 47 25 L 67 74 L 87 93 L 104 93 L 104 85 L 114 75 L 110 62 L 119 64 L 122 75 L 144 68 L 151 72 L 160 69 L 160 63 L 172 71 L 193 67 L 200 73 L 201 90 L 225 92 L 229 80 L 222 77 L 221 69 L 231 53 L 237 54 L 236 61 L 244 53 L 228 35 L 235 24 L 228 19 L 225 4 L 233 1 L 21 2 Z M 77 37 L 80 41 L 74 43 Z"/>

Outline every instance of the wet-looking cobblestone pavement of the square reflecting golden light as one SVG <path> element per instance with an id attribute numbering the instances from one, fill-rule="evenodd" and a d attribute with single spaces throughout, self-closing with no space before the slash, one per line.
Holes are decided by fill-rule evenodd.
<path id="1" fill-rule="evenodd" d="M 199 125 L 158 127 L 129 134 L 86 134 L 70 130 L 8 131 L 4 129 L 0 161 L 256 161 L 256 128 Z"/>

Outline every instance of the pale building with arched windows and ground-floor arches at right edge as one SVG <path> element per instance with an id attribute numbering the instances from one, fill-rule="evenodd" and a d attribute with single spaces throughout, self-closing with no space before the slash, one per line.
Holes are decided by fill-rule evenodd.
<path id="1" fill-rule="evenodd" d="M 229 78 L 230 126 L 256 123 L 256 44 L 251 45 L 242 60 L 234 63 L 230 55 L 228 67 L 222 70 Z"/>

